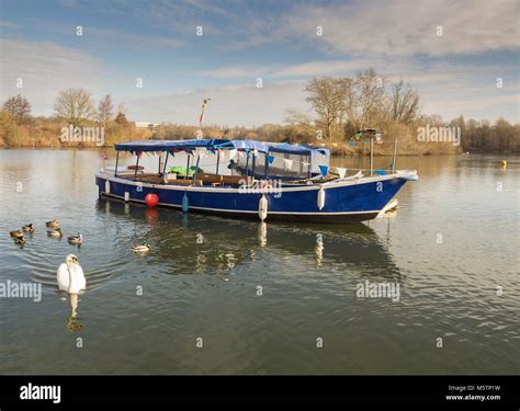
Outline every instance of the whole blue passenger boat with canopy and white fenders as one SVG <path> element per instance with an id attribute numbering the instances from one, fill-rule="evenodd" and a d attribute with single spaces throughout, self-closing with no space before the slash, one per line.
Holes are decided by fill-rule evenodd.
<path id="1" fill-rule="evenodd" d="M 415 170 L 374 172 L 372 167 L 366 174 L 346 169 L 332 173 L 329 150 L 304 145 L 227 139 L 142 140 L 117 144 L 115 150 L 114 172 L 102 170 L 95 175 L 101 197 L 146 204 L 147 195 L 155 194 L 159 206 L 184 213 L 262 221 L 370 220 L 407 181 L 418 179 Z M 121 152 L 135 156 L 135 164 L 122 168 Z M 185 168 L 169 169 L 169 160 L 180 152 L 186 155 Z M 148 171 L 139 165 L 145 155 L 158 155 L 157 169 Z M 208 156 L 215 158 L 212 172 L 200 167 L 201 158 Z"/>

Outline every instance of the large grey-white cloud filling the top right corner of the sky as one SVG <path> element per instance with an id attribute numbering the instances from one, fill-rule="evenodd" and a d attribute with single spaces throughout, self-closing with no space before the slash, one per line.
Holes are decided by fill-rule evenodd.
<path id="1" fill-rule="evenodd" d="M 297 5 L 281 18 L 281 31 L 265 37 L 310 42 L 335 55 L 475 54 L 518 49 L 518 12 L 516 0 L 354 0 L 344 5 Z M 316 35 L 318 25 L 324 27 L 323 36 Z M 438 26 L 442 26 L 442 36 L 437 35 Z"/>

